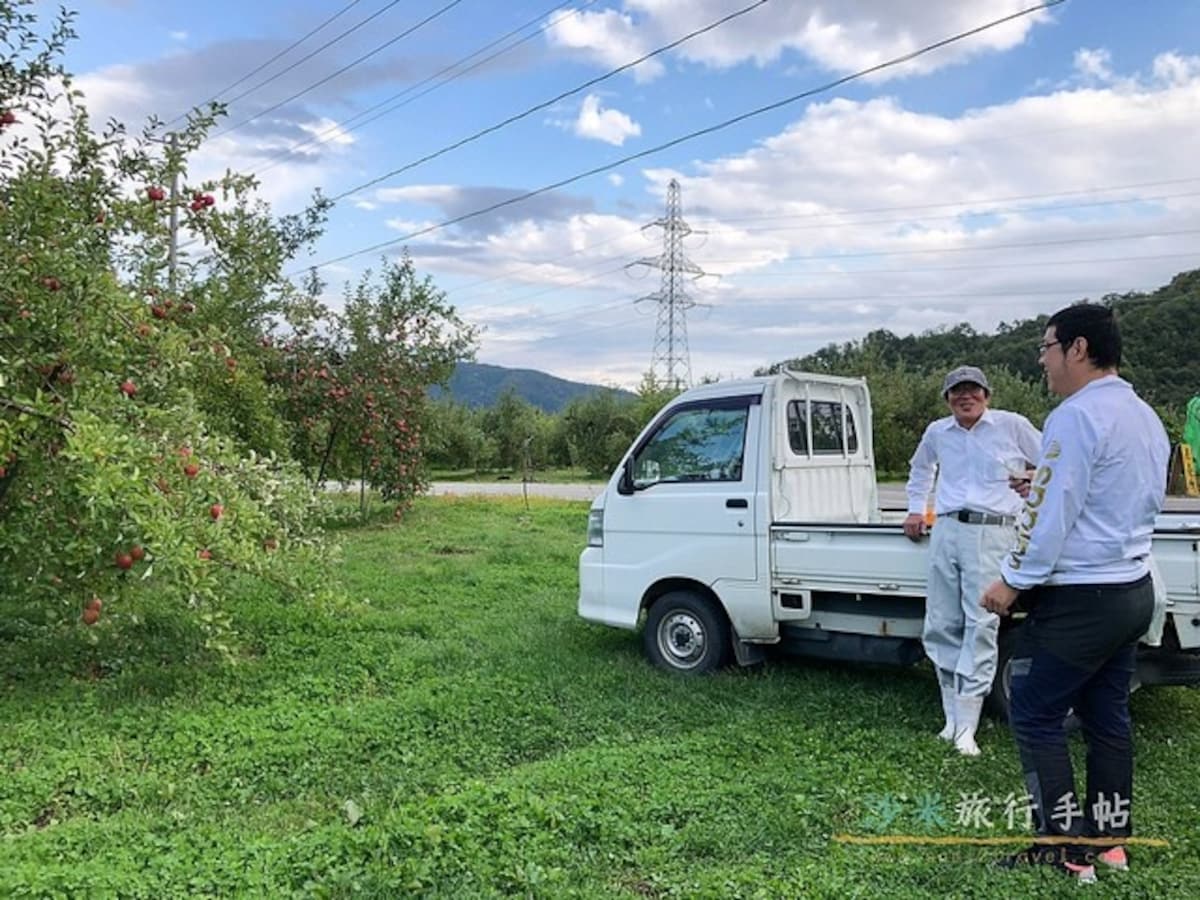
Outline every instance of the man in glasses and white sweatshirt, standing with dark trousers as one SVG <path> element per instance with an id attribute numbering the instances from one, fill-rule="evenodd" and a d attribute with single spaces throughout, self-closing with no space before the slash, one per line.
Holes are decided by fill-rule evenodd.
<path id="1" fill-rule="evenodd" d="M 1121 334 L 1111 310 L 1060 310 L 1038 350 L 1046 384 L 1063 401 L 1045 422 L 1016 542 L 980 600 L 1002 616 L 1019 595 L 1028 608 L 1012 661 L 1010 719 L 1042 842 L 1002 864 L 1049 863 L 1094 881 L 1097 860 L 1128 868 L 1121 844 L 1133 827 L 1129 680 L 1154 607 L 1150 545 L 1170 443 L 1154 410 L 1117 377 Z M 1063 727 L 1069 709 L 1087 742 L 1082 804 Z"/>

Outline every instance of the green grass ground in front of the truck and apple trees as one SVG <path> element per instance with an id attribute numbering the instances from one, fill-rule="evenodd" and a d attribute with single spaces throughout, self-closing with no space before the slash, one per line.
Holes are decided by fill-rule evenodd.
<path id="1" fill-rule="evenodd" d="M 0 896 L 1076 895 L 990 869 L 1009 847 L 839 842 L 1018 848 L 1008 732 L 953 754 L 922 667 L 652 670 L 575 614 L 586 509 L 428 499 L 347 532 L 348 600 L 247 589 L 235 664 L 163 629 L 157 658 L 67 678 L 0 640 Z M 1134 716 L 1138 830 L 1170 846 L 1092 890 L 1195 896 L 1200 691 Z"/>

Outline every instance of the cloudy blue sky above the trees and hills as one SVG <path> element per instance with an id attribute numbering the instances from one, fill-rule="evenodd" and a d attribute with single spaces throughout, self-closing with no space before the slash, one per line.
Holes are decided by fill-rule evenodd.
<path id="1" fill-rule="evenodd" d="M 877 328 L 990 330 L 1196 268 L 1200 2 L 1190 0 L 1068 0 L 497 214 L 398 240 L 1028 5 L 768 0 L 653 62 L 350 193 L 308 262 L 397 241 L 323 266 L 336 304 L 346 281 L 407 245 L 420 271 L 485 328 L 481 361 L 622 386 L 650 367 L 654 305 L 634 301 L 659 288 L 655 270 L 626 264 L 661 253 L 661 232 L 643 227 L 664 215 L 672 178 L 684 218 L 706 232 L 685 252 L 713 276 L 689 286 L 697 378 L 749 374 Z M 318 186 L 353 191 L 748 6 L 86 0 L 76 7 L 68 66 L 97 121 L 136 127 L 216 96 L 342 11 L 226 91 L 246 96 L 191 160 L 196 178 L 258 173 L 282 214 Z M 445 80 L 508 32 L 486 50 L 500 52 L 493 60 Z M 361 127 L 347 121 L 390 107 Z"/>

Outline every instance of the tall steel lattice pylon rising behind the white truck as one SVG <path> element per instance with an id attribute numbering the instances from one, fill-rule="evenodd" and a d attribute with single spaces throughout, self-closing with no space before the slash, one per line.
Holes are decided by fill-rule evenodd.
<path id="1" fill-rule="evenodd" d="M 691 386 L 688 310 L 697 305 L 684 289 L 684 276 L 695 281 L 702 278 L 704 271 L 683 252 L 683 239 L 701 232 L 692 232 L 683 220 L 679 182 L 674 179 L 667 185 L 666 215 L 650 222 L 642 230 L 654 227 L 662 229 L 662 254 L 646 257 L 630 265 L 660 269 L 662 282 L 655 293 L 641 296 L 635 302 L 653 301 L 659 306 L 658 325 L 654 329 L 654 352 L 650 356 L 650 377 L 665 388 L 682 390 Z"/>

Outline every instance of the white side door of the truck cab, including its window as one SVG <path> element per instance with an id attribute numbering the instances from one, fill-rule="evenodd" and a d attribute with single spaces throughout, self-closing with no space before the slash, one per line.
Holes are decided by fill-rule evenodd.
<path id="1" fill-rule="evenodd" d="M 630 452 L 604 512 L 606 589 L 656 581 L 755 581 L 758 395 L 670 410 Z M 608 580 L 612 581 L 608 581 Z"/>

